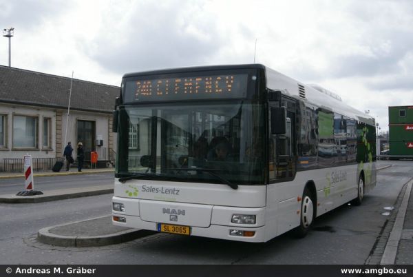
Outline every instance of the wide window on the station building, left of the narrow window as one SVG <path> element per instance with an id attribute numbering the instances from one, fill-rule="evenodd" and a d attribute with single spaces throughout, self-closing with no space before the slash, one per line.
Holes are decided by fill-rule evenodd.
<path id="1" fill-rule="evenodd" d="M 37 147 L 37 125 L 35 116 L 13 116 L 13 147 Z"/>

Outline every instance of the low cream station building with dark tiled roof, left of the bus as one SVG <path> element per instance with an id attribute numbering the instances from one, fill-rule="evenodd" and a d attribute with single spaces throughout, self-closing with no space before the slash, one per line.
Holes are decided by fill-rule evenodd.
<path id="1" fill-rule="evenodd" d="M 88 160 L 114 160 L 112 111 L 120 88 L 0 65 L 0 171 L 21 171 L 32 155 L 34 170 L 48 170 L 63 157 L 65 143 L 78 141 Z M 70 113 L 68 105 L 70 98 Z M 38 167 L 38 168 L 36 168 Z"/>

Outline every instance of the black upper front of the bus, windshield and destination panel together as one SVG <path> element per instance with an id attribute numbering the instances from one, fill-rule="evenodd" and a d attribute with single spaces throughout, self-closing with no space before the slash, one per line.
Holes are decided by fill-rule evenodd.
<path id="1" fill-rule="evenodd" d="M 238 185 L 264 185 L 268 120 L 260 94 L 260 85 L 264 84 L 260 69 L 191 68 L 126 74 L 122 83 L 123 104 L 119 106 L 116 177 L 145 173 L 151 174 L 150 180 L 199 183 L 226 180 Z M 191 93 L 178 99 L 162 96 L 162 93 L 165 96 L 165 80 L 188 81 L 208 76 L 213 80 L 235 76 L 244 83 L 231 87 L 232 96 L 222 91 L 209 94 L 202 91 L 204 95 L 200 98 Z M 163 82 L 160 96 L 143 101 L 136 97 L 136 85 L 127 83 L 142 80 L 155 80 L 151 84 Z M 208 84 L 189 85 L 193 93 L 196 85 Z M 221 89 L 222 83 L 216 88 Z M 156 89 L 152 87 L 146 92 L 156 93 Z M 179 93 L 185 92 L 189 89 L 180 87 Z M 217 157 L 224 146 L 228 155 L 225 161 Z M 221 181 L 214 175 L 222 177 Z"/>

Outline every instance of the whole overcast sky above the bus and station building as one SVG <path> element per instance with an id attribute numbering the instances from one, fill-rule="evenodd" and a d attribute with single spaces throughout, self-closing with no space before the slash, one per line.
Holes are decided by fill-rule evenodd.
<path id="1" fill-rule="evenodd" d="M 370 110 L 413 105 L 412 0 L 0 0 L 12 67 L 111 85 L 126 72 L 262 63 Z M 8 39 L 0 39 L 8 65 Z"/>

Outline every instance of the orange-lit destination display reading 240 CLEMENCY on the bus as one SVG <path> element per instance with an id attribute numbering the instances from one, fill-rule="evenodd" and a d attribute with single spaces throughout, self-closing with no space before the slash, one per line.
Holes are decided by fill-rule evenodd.
<path id="1" fill-rule="evenodd" d="M 125 100 L 135 102 L 244 98 L 247 78 L 248 74 L 228 74 L 138 79 L 127 81 Z"/>

